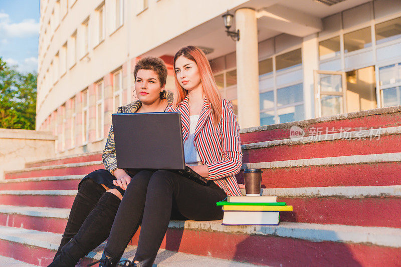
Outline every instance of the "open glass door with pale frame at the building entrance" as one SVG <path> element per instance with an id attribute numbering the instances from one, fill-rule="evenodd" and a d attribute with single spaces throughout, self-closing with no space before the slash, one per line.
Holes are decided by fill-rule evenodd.
<path id="1" fill-rule="evenodd" d="M 314 71 L 315 117 L 347 112 L 345 72 Z"/>

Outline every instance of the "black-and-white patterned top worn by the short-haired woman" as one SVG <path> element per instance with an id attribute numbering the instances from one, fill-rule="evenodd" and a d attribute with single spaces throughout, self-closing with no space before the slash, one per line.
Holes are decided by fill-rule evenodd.
<path id="1" fill-rule="evenodd" d="M 164 91 L 164 97 L 167 99 L 167 107 L 172 105 L 173 93 L 170 91 Z M 142 106 L 142 102 L 136 100 L 129 103 L 126 106 L 118 107 L 117 113 L 135 113 Z M 114 145 L 114 131 L 113 125 L 110 126 L 109 136 L 107 137 L 106 145 L 102 154 L 104 167 L 113 174 L 114 170 L 117 169 L 117 158 L 116 158 L 116 148 Z"/>

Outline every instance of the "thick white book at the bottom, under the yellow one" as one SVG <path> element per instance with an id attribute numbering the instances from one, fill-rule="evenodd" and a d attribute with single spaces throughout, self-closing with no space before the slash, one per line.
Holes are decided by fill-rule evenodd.
<path id="1" fill-rule="evenodd" d="M 279 211 L 225 211 L 225 225 L 278 225 Z"/>

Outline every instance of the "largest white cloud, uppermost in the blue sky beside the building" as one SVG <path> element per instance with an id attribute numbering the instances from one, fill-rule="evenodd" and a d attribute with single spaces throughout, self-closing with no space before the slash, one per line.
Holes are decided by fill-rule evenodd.
<path id="1" fill-rule="evenodd" d="M 34 19 L 23 20 L 20 23 L 12 23 L 10 15 L 0 13 L 0 36 L 3 38 L 23 38 L 39 34 L 39 23 Z"/>

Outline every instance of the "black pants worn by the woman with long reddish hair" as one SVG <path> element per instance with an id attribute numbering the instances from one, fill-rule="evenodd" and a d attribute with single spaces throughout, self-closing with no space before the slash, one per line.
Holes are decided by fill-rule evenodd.
<path id="1" fill-rule="evenodd" d="M 135 260 L 149 258 L 157 253 L 170 218 L 182 219 L 177 218 L 181 214 L 191 220 L 222 219 L 216 202 L 226 197 L 214 182 L 205 186 L 170 171 L 141 171 L 125 191 L 105 250 L 121 255 L 141 224 Z"/>

